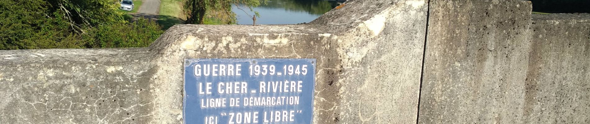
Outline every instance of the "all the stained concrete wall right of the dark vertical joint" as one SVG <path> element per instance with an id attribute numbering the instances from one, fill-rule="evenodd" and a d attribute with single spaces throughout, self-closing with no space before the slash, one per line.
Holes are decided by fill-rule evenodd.
<path id="1" fill-rule="evenodd" d="M 588 14 L 430 1 L 419 123 L 590 123 Z"/>

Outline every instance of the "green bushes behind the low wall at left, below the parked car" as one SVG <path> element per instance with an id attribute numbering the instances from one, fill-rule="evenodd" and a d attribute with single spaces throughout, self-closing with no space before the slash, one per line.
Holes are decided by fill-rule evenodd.
<path id="1" fill-rule="evenodd" d="M 0 0 L 0 50 L 145 47 L 163 32 L 112 0 Z M 120 40 L 114 40 L 122 38 Z"/>

